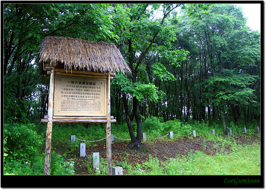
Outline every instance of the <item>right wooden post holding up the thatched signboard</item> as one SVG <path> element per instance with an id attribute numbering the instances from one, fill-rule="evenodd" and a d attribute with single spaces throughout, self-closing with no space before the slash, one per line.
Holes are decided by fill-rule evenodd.
<path id="1" fill-rule="evenodd" d="M 106 123 L 106 159 L 107 175 L 112 175 L 112 151 L 111 151 L 111 100 L 110 100 L 110 72 L 106 79 L 106 103 L 107 103 L 107 123 Z"/>

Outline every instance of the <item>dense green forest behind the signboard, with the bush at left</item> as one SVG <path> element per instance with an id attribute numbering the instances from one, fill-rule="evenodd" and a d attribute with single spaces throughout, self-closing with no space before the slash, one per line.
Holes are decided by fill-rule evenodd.
<path id="1" fill-rule="evenodd" d="M 49 76 L 39 74 L 38 52 L 47 36 L 117 46 L 132 75 L 116 73 L 111 81 L 112 125 L 129 133 L 130 146 L 141 146 L 141 132 L 151 130 L 147 120 L 204 123 L 225 136 L 228 125 L 260 126 L 261 37 L 241 7 L 4 4 L 3 10 L 6 161 L 33 156 L 45 139 L 40 119 L 47 115 Z"/>

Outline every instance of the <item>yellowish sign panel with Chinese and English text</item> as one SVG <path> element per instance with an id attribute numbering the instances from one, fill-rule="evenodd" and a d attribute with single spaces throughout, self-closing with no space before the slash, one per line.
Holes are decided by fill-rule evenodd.
<path id="1" fill-rule="evenodd" d="M 106 116 L 106 79 L 55 75 L 54 116 Z"/>

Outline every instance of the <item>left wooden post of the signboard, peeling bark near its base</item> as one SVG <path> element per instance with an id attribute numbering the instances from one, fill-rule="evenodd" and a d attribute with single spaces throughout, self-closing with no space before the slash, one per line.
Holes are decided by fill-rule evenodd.
<path id="1" fill-rule="evenodd" d="M 54 101 L 54 69 L 52 69 L 50 75 L 50 86 L 49 86 L 49 103 L 48 103 L 48 123 L 46 129 L 46 140 L 45 140 L 45 159 L 44 159 L 44 170 L 43 175 L 50 175 L 50 162 L 51 162 L 51 141 L 52 141 L 52 126 L 53 126 L 53 103 Z"/>

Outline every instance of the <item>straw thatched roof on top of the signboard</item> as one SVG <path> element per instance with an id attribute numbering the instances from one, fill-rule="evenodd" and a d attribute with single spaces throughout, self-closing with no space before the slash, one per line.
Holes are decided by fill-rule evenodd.
<path id="1" fill-rule="evenodd" d="M 42 41 L 40 62 L 54 61 L 65 69 L 87 69 L 101 73 L 130 72 L 115 44 L 90 42 L 70 37 L 46 37 Z"/>

